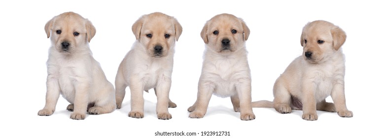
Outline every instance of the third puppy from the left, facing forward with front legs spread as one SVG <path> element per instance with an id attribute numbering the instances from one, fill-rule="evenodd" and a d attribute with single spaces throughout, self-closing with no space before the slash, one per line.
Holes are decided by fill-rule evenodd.
<path id="1" fill-rule="evenodd" d="M 212 17 L 203 27 L 201 37 L 206 43 L 198 98 L 187 110 L 190 118 L 202 118 L 211 95 L 230 97 L 234 111 L 241 120 L 253 120 L 251 108 L 251 77 L 245 41 L 250 30 L 245 22 L 231 14 Z"/>

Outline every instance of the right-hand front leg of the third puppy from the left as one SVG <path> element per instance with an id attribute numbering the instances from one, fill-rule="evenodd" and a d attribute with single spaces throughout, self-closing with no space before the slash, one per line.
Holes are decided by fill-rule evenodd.
<path id="1" fill-rule="evenodd" d="M 236 84 L 236 89 L 239 96 L 239 104 L 241 111 L 241 120 L 253 120 L 255 115 L 251 107 L 251 84 L 250 80 L 241 79 Z"/>

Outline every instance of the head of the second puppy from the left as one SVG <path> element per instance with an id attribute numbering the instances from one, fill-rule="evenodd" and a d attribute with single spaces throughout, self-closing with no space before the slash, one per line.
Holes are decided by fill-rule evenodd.
<path id="1" fill-rule="evenodd" d="M 150 57 L 167 56 L 182 34 L 182 26 L 171 16 L 160 12 L 141 16 L 132 26 L 137 40 L 146 46 Z"/>

